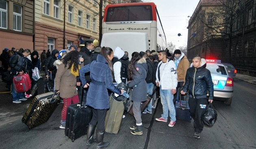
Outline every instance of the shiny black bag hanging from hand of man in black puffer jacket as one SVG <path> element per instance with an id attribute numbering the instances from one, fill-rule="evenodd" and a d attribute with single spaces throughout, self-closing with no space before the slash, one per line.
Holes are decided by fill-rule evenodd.
<path id="1" fill-rule="evenodd" d="M 207 106 L 206 111 L 204 114 L 202 114 L 201 120 L 204 125 L 208 127 L 213 127 L 214 123 L 217 120 L 217 112 L 216 110 L 213 109 L 213 104 L 209 103 Z"/>

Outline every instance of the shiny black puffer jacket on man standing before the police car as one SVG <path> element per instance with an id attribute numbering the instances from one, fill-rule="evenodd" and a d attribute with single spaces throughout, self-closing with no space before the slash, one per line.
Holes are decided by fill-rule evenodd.
<path id="1" fill-rule="evenodd" d="M 213 81 L 210 71 L 205 68 L 206 63 L 199 68 L 190 67 L 187 70 L 186 82 L 183 91 L 193 98 L 205 98 L 209 93 L 209 99 L 213 99 Z M 195 81 L 194 81 L 195 80 Z"/>

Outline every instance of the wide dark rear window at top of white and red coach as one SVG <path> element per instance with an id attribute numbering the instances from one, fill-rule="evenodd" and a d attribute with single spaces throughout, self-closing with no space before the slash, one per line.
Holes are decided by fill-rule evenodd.
<path id="1" fill-rule="evenodd" d="M 106 22 L 152 21 L 152 6 L 117 6 L 107 10 Z"/>

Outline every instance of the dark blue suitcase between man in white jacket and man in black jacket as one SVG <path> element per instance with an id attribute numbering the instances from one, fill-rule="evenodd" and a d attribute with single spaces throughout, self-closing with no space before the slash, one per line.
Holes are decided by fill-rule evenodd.
<path id="1" fill-rule="evenodd" d="M 175 104 L 176 119 L 191 121 L 191 116 L 189 112 L 189 94 L 181 95 L 181 88 L 178 88 L 179 100 Z"/>

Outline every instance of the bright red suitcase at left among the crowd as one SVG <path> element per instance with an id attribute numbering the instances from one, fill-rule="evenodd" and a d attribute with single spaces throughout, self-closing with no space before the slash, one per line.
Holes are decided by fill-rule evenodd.
<path id="1" fill-rule="evenodd" d="M 31 80 L 27 73 L 13 77 L 14 89 L 17 93 L 26 92 L 31 89 Z"/>

